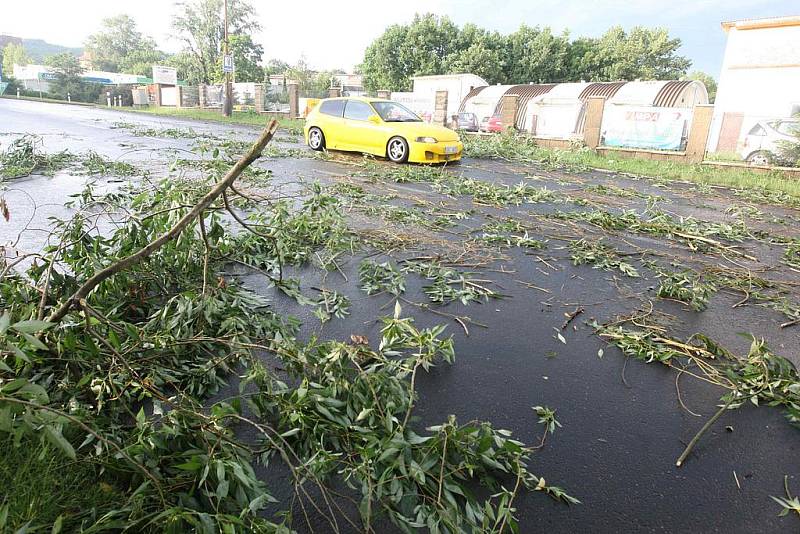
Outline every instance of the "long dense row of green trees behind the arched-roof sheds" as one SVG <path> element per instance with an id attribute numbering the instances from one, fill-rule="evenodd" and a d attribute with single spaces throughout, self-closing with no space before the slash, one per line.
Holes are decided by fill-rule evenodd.
<path id="1" fill-rule="evenodd" d="M 471 72 L 489 83 L 674 79 L 691 61 L 663 28 L 610 28 L 599 38 L 522 24 L 509 35 L 448 17 L 416 15 L 394 24 L 364 53 L 359 70 L 368 90 L 410 90 L 411 77 Z"/>

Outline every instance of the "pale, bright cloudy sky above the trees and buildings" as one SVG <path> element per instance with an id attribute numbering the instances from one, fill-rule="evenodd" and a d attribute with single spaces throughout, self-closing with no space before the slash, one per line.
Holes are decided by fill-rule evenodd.
<path id="1" fill-rule="evenodd" d="M 410 21 L 414 13 L 447 15 L 457 24 L 513 32 L 520 24 L 550 26 L 572 37 L 599 36 L 610 26 L 666 27 L 682 42 L 680 53 L 692 70 L 719 76 L 725 48 L 720 22 L 800 15 L 799 0 L 252 0 L 262 31 L 256 41 L 265 58 L 294 63 L 301 56 L 313 68 L 351 70 L 384 28 Z M 105 17 L 127 13 L 139 30 L 168 52 L 180 43 L 170 35 L 172 0 L 0 0 L 0 34 L 81 46 Z"/>

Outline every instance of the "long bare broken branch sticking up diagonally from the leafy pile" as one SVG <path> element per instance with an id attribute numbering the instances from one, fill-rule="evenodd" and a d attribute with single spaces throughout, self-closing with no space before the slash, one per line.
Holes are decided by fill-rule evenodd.
<path id="1" fill-rule="evenodd" d="M 251 163 L 261 156 L 261 152 L 272 140 L 272 137 L 275 135 L 275 131 L 277 129 L 278 122 L 273 119 L 269 122 L 269 124 L 267 124 L 267 127 L 261 133 L 261 136 L 250 148 L 250 150 L 243 155 L 239 161 L 236 162 L 236 165 L 231 167 L 222 180 L 220 180 L 217 185 L 215 185 L 208 193 L 206 193 L 206 195 L 189 211 L 189 213 L 184 215 L 181 220 L 175 223 L 175 226 L 170 228 L 167 233 L 149 245 L 140 249 L 138 252 L 131 254 L 130 256 L 127 256 L 95 273 L 91 278 L 84 282 L 83 285 L 79 287 L 71 297 L 64 301 L 64 303 L 62 303 L 58 309 L 53 311 L 53 313 L 51 313 L 47 318 L 47 321 L 51 323 L 60 321 L 67 313 L 69 313 L 69 310 L 72 309 L 77 302 L 83 298 L 86 298 L 86 296 L 103 281 L 111 278 L 116 273 L 131 267 L 132 265 L 136 265 L 150 256 L 153 252 L 160 249 L 167 242 L 180 235 L 181 232 L 183 232 L 183 230 L 185 230 L 186 227 L 189 226 L 189 224 L 203 212 L 203 210 L 208 208 L 215 200 L 217 200 L 217 198 L 219 198 L 220 195 L 222 195 L 222 193 L 236 180 L 236 178 L 239 177 L 239 175 L 242 174 L 247 167 L 250 166 Z"/>

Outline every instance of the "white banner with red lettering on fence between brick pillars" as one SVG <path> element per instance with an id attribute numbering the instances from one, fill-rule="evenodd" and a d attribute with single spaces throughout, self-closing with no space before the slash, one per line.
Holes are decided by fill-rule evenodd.
<path id="1" fill-rule="evenodd" d="M 607 105 L 603 111 L 602 144 L 681 150 L 691 120 L 691 109 Z"/>

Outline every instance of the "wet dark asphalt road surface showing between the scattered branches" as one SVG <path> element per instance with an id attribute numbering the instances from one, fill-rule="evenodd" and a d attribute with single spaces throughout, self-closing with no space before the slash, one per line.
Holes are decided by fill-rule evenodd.
<path id="1" fill-rule="evenodd" d="M 42 136 L 48 152 L 91 149 L 157 173 L 176 153 L 189 147 L 185 139 L 134 137 L 124 128 L 112 129 L 116 121 L 154 128 L 191 127 L 226 138 L 253 138 L 256 134 L 255 129 L 247 127 L 0 99 L 0 149 L 18 134 L 33 132 Z M 365 180 L 354 178 L 354 164 L 358 162 L 359 158 L 337 156 L 333 161 L 262 159 L 259 165 L 272 169 L 277 183 L 355 180 L 369 187 Z M 571 194 L 584 191 L 587 184 L 614 183 L 663 195 L 672 201 L 664 205 L 665 209 L 707 220 L 725 220 L 725 208 L 742 203 L 722 192 L 701 198 L 688 187 L 662 188 L 603 173 L 570 175 L 538 166 L 487 160 L 466 160 L 454 172 L 504 183 L 535 180 L 537 185 Z M 9 223 L 0 221 L 0 242 L 13 241 L 27 228 L 19 247 L 40 246 L 47 237 L 47 217 L 66 214 L 62 202 L 67 195 L 79 192 L 87 180 L 59 173 L 52 178 L 29 177 L 7 184 L 4 195 L 11 205 L 12 219 Z M 102 178 L 98 182 L 107 188 L 118 184 L 117 180 Z M 425 184 L 373 187 L 394 191 L 403 198 L 441 200 Z M 460 200 L 456 204 L 463 202 L 469 203 Z M 607 203 L 614 202 L 626 207 L 634 201 L 607 199 Z M 523 205 L 503 211 L 526 217 L 534 211 L 551 209 L 548 205 Z M 800 212 L 763 205 L 759 209 L 785 218 L 789 223 L 781 226 L 780 231 L 797 235 Z M 492 212 L 480 210 L 482 216 Z M 25 223 L 29 218 L 32 221 Z M 534 235 L 537 230 L 542 234 Z M 653 279 L 620 278 L 589 266 L 573 267 L 568 261 L 568 251 L 563 250 L 565 243 L 549 235 L 533 226 L 532 237 L 550 239 L 548 250 L 538 253 L 539 259 L 511 249 L 505 257 L 495 259 L 490 269 L 483 269 L 481 276 L 491 278 L 507 298 L 444 308 L 449 313 L 468 315 L 487 328 L 471 326 L 467 337 L 458 324 L 449 323 L 448 331 L 456 340 L 456 361 L 418 377 L 419 401 L 415 413 L 421 418 L 419 426 L 436 424 L 455 414 L 461 422 L 474 418 L 489 420 L 498 428 L 512 430 L 517 439 L 536 443 L 541 427 L 536 424 L 531 407 L 547 405 L 557 410 L 563 427 L 548 437 L 544 449 L 533 456 L 530 468 L 548 483 L 565 488 L 583 504 L 567 507 L 541 494 L 523 493 L 515 501 L 522 532 L 797 532 L 798 518 L 779 518 L 780 508 L 769 495 L 783 494 L 784 475 L 789 475 L 790 487 L 800 492 L 800 431 L 790 427 L 779 410 L 747 405 L 725 414 L 686 464 L 676 468 L 675 459 L 685 444 L 716 411 L 721 391 L 681 378 L 683 403 L 703 416 L 695 417 L 679 403 L 674 372 L 655 364 L 636 361 L 626 364 L 619 351 L 607 347 L 585 322 L 590 318 L 603 322 L 641 308 L 642 297 L 653 296 Z M 448 239 L 458 244 L 462 238 L 451 235 Z M 669 258 L 687 255 L 682 247 L 647 239 L 630 240 L 640 246 L 654 247 Z M 422 247 L 396 256 L 411 257 L 424 250 L 427 249 Z M 770 250 L 761 252 L 764 257 L 775 254 Z M 346 340 L 351 334 L 361 334 L 374 342 L 379 338 L 379 327 L 374 320 L 391 313 L 393 303 L 386 297 L 366 297 L 358 289 L 359 260 L 356 257 L 342 262 L 347 279 L 339 273 L 313 267 L 297 273 L 302 275 L 306 287 L 324 286 L 350 297 L 351 316 L 324 326 L 310 309 L 299 307 L 293 300 L 267 288 L 259 277 L 247 277 L 246 282 L 269 294 L 276 308 L 298 316 L 304 324 L 304 336 L 319 334 Z M 776 276 L 792 275 L 783 272 Z M 528 289 L 516 280 L 533 283 L 549 293 Z M 405 297 L 424 302 L 421 280 L 409 276 L 408 285 Z M 703 332 L 742 353 L 746 352 L 748 342 L 737 334 L 751 332 L 765 337 L 776 353 L 800 363 L 797 343 L 800 326 L 781 329 L 779 325 L 785 319 L 763 308 L 731 308 L 738 300 L 736 295 L 720 292 L 702 313 L 691 312 L 673 302 L 654 300 L 654 303 L 659 311 L 675 317 L 671 331 L 675 336 Z M 564 313 L 577 306 L 585 307 L 583 315 L 560 330 Z M 404 310 L 413 314 L 422 326 L 448 321 L 413 306 L 406 305 Z M 554 328 L 562 332 L 566 343 L 557 339 Z M 601 348 L 602 358 L 598 357 Z M 726 430 L 726 426 L 731 430 Z M 268 484 L 274 487 L 275 494 L 286 495 L 281 473 L 263 472 L 270 477 Z M 296 526 L 302 530 L 300 522 Z M 325 531 L 321 522 L 319 531 Z"/>

